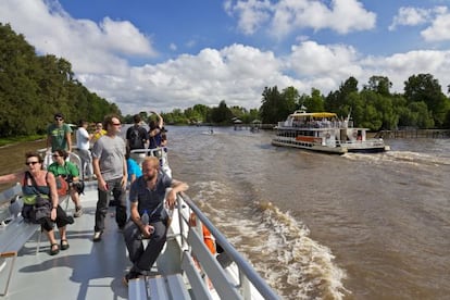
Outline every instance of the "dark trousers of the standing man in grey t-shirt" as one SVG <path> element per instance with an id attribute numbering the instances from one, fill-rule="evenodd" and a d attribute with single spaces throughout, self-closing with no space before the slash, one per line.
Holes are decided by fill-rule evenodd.
<path id="1" fill-rule="evenodd" d="M 95 232 L 104 230 L 104 220 L 107 217 L 108 208 L 110 204 L 111 191 L 115 201 L 115 222 L 118 228 L 124 228 L 126 223 L 126 190 L 122 187 L 122 177 L 107 180 L 108 191 L 98 189 L 99 200 L 97 201 L 96 210 L 96 226 Z"/>

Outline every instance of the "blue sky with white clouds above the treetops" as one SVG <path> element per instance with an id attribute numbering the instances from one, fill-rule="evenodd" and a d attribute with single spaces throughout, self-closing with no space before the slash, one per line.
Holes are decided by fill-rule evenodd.
<path id="1" fill-rule="evenodd" d="M 265 87 L 326 96 L 350 76 L 450 85 L 450 0 L 0 0 L 0 23 L 124 114 L 258 109 Z"/>

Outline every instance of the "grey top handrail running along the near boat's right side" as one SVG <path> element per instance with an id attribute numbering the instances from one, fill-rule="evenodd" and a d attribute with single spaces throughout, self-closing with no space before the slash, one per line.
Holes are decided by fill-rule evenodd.
<path id="1" fill-rule="evenodd" d="M 214 236 L 216 242 L 221 245 L 226 254 L 237 264 L 239 272 L 243 273 L 252 283 L 254 288 L 261 293 L 264 299 L 280 299 L 279 296 L 267 285 L 267 283 L 254 271 L 251 264 L 228 242 L 225 236 L 214 227 L 211 221 L 201 212 L 201 210 L 193 203 L 193 201 L 186 193 L 182 192 L 180 197 L 185 203 L 193 211 L 197 218 L 207 226 L 210 233 Z"/>

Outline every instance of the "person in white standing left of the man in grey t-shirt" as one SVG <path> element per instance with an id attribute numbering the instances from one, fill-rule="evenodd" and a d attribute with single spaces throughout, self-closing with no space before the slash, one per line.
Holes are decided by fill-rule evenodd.
<path id="1" fill-rule="evenodd" d="M 85 175 L 88 179 L 92 179 L 92 157 L 90 154 L 89 141 L 92 139 L 92 135 L 87 132 L 88 123 L 85 120 L 78 122 L 78 129 L 76 130 L 76 147 L 78 149 L 79 158 L 82 159 L 82 177 Z"/>

